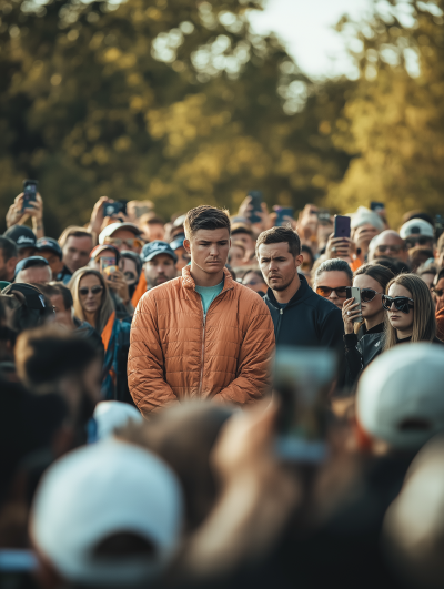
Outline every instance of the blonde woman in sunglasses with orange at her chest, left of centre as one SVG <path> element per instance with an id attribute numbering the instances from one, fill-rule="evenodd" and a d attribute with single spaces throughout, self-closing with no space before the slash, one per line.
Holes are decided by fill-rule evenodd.
<path id="1" fill-rule="evenodd" d="M 70 283 L 75 316 L 88 322 L 101 335 L 104 346 L 102 393 L 105 399 L 132 403 L 128 389 L 127 359 L 130 323 L 115 316 L 107 282 L 97 270 L 78 270 Z"/>

